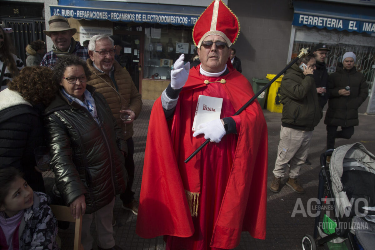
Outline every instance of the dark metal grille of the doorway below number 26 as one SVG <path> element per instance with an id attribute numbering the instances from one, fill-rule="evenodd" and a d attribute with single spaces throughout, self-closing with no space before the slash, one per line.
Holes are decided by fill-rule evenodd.
<path id="1" fill-rule="evenodd" d="M 26 62 L 25 48 L 28 44 L 35 40 L 46 41 L 46 36 L 43 33 L 45 30 L 45 21 L 41 19 L 6 19 L 6 27 L 12 28 L 13 32 L 10 36 L 13 39 L 16 54 L 18 54 L 22 61 Z"/>

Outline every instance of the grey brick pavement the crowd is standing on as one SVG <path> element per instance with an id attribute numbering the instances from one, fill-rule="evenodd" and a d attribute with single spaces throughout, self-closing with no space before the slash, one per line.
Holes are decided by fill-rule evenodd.
<path id="1" fill-rule="evenodd" d="M 143 100 L 141 115 L 134 122 L 134 142 L 135 142 L 135 180 L 133 190 L 135 197 L 139 199 L 141 188 L 142 166 L 144 149 L 147 136 L 148 120 L 150 117 L 152 100 Z M 281 126 L 281 114 L 271 113 L 263 110 L 266 117 L 269 130 L 269 164 L 268 164 L 268 186 L 272 181 L 273 166 L 276 160 L 277 147 L 279 143 L 279 132 Z M 324 114 L 325 115 L 325 114 Z M 360 126 L 355 127 L 355 133 L 350 140 L 338 139 L 336 147 L 339 145 L 362 142 L 365 147 L 375 153 L 375 133 L 369 133 L 375 123 L 375 116 L 359 115 Z M 306 208 L 309 198 L 317 196 L 318 174 L 320 171 L 319 157 L 325 150 L 326 145 L 326 127 L 323 120 L 314 130 L 314 136 L 311 142 L 309 160 L 311 166 L 305 165 L 301 169 L 300 179 L 306 190 L 304 195 L 299 195 L 292 191 L 288 186 L 283 187 L 281 192 L 267 193 L 267 235 L 266 240 L 253 239 L 248 233 L 242 233 L 240 245 L 236 250 L 247 249 L 302 249 L 300 246 L 301 238 L 305 234 L 313 234 L 314 218 L 303 217 L 297 214 L 291 217 L 297 199 L 301 199 L 303 206 Z M 254 190 L 256 192 L 256 190 Z M 136 216 L 129 211 L 121 208 L 120 199 L 116 199 L 114 215 L 117 224 L 114 226 L 115 241 L 124 250 L 162 250 L 165 248 L 162 237 L 154 239 L 143 239 L 135 234 Z M 72 249 L 72 225 L 67 230 L 60 230 L 59 235 L 62 238 L 62 250 Z M 94 227 L 92 227 L 95 235 Z M 95 236 L 94 236 L 95 238 Z M 94 244 L 94 250 L 96 249 Z M 323 249 L 323 247 L 319 248 Z"/>

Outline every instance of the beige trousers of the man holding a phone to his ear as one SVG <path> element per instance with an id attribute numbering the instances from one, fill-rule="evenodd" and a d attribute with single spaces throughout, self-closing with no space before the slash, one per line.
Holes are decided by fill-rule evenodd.
<path id="1" fill-rule="evenodd" d="M 290 178 L 297 178 L 301 165 L 309 154 L 312 131 L 292 129 L 281 126 L 278 157 L 276 158 L 273 174 L 283 178 L 287 175 L 288 162 L 290 161 Z"/>

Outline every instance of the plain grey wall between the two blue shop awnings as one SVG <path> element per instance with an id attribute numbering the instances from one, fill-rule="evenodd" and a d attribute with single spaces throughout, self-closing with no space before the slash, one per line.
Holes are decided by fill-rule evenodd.
<path id="1" fill-rule="evenodd" d="M 228 0 L 240 21 L 240 35 L 232 45 L 241 59 L 242 74 L 277 74 L 287 64 L 293 8 L 288 0 Z"/>

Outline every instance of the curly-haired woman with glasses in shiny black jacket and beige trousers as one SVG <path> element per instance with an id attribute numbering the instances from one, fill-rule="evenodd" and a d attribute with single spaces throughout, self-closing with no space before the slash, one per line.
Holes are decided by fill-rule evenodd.
<path id="1" fill-rule="evenodd" d="M 82 244 L 92 249 L 95 215 L 98 249 L 120 249 L 113 238 L 115 195 L 126 187 L 127 147 L 103 95 L 86 85 L 89 69 L 77 56 L 60 58 L 53 70 L 60 91 L 46 108 L 46 128 L 56 187 L 71 208 L 83 214 Z"/>

